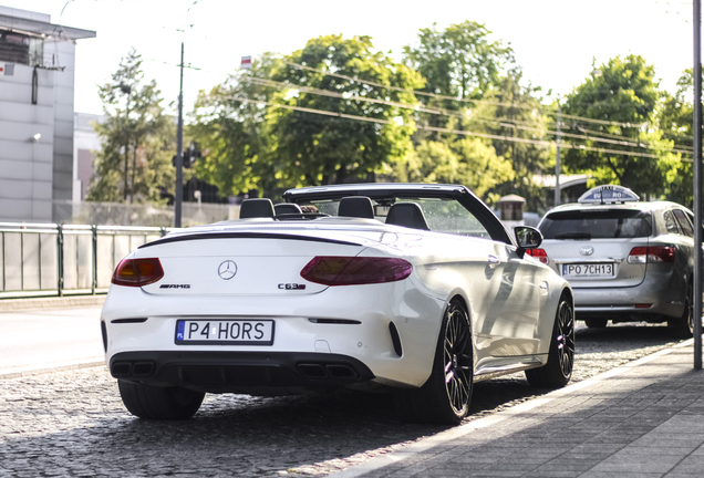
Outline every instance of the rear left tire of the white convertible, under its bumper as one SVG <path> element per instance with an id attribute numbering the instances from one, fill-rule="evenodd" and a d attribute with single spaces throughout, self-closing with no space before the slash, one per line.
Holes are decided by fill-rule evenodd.
<path id="1" fill-rule="evenodd" d="M 186 419 L 198 412 L 205 393 L 188 388 L 157 387 L 117 381 L 120 396 L 127 411 L 146 419 Z"/>

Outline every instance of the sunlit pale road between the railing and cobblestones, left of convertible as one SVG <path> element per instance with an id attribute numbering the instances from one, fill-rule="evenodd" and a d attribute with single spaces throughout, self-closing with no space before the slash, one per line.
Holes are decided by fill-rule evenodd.
<path id="1" fill-rule="evenodd" d="M 0 370 L 103 356 L 100 306 L 0 312 Z"/>

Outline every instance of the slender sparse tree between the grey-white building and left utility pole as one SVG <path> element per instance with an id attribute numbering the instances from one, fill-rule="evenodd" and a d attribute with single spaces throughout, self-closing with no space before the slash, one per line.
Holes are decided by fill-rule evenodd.
<path id="1" fill-rule="evenodd" d="M 173 185 L 174 122 L 164 114 L 156 82 L 144 81 L 142 56 L 130 50 L 112 80 L 99 89 L 106 119 L 95 131 L 103 147 L 87 200 L 158 201 Z M 173 189 L 173 186 L 172 186 Z"/>

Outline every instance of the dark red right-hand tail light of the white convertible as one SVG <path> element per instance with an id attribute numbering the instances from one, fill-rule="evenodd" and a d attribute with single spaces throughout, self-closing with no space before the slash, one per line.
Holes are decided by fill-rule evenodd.
<path id="1" fill-rule="evenodd" d="M 301 277 L 325 285 L 359 285 L 400 281 L 412 271 L 411 262 L 397 258 L 317 256 Z"/>

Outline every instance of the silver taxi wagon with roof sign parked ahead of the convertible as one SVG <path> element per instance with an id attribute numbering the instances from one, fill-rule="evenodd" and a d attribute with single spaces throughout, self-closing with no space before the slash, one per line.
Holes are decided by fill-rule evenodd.
<path id="1" fill-rule="evenodd" d="M 587 326 L 666 321 L 692 333 L 693 224 L 679 204 L 599 186 L 550 210 L 538 225 L 541 248 L 529 253 L 570 282 Z"/>

